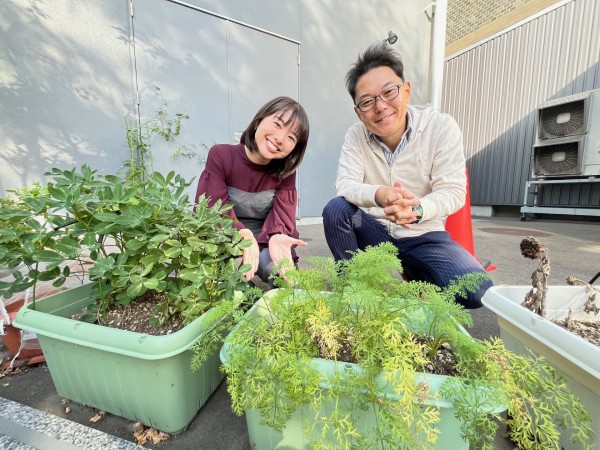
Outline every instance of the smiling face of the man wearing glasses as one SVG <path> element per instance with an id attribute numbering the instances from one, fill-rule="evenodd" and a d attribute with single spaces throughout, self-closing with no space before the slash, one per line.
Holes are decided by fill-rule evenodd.
<path id="1" fill-rule="evenodd" d="M 406 130 L 406 109 L 410 100 L 410 83 L 402 79 L 389 67 L 382 66 L 369 70 L 356 83 L 358 104 L 368 97 L 376 97 L 386 88 L 403 84 L 398 96 L 388 102 L 381 98 L 375 101 L 375 107 L 369 111 L 354 110 L 367 129 L 379 137 L 391 150 L 394 150 Z"/>

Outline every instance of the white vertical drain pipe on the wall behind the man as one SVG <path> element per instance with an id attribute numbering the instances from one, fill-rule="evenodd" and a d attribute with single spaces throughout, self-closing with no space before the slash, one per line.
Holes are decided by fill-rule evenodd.
<path id="1" fill-rule="evenodd" d="M 433 37 L 431 45 L 431 84 L 429 102 L 433 109 L 439 111 L 442 106 L 442 85 L 444 82 L 444 53 L 446 49 L 446 18 L 448 15 L 448 0 L 436 0 L 425 8 L 431 8 L 433 19 Z"/>

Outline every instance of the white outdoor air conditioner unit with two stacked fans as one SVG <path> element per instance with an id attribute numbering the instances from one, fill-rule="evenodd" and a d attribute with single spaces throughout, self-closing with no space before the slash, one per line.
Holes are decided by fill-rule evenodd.
<path id="1" fill-rule="evenodd" d="M 533 178 L 600 176 L 600 89 L 537 107 Z"/>

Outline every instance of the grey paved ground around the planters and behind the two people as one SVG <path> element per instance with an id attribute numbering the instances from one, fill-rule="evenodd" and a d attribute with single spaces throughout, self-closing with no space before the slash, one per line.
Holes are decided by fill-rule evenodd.
<path id="1" fill-rule="evenodd" d="M 309 246 L 299 249 L 300 267 L 307 255 L 331 256 L 322 226 L 300 225 L 301 238 Z M 550 285 L 564 285 L 574 275 L 589 281 L 600 271 L 600 222 L 545 218 L 521 221 L 519 217 L 474 218 L 473 235 L 476 254 L 497 266 L 491 272 L 494 283 L 529 285 L 535 264 L 521 256 L 519 243 L 525 236 L 535 236 L 549 251 Z M 472 311 L 476 338 L 498 336 L 494 313 L 481 308 Z M 4 352 L 4 354 L 2 354 Z M 0 358 L 6 349 L 0 347 Z M 152 395 L 152 393 L 148 393 Z M 69 412 L 66 412 L 66 408 Z M 136 448 L 133 423 L 106 414 L 101 420 L 90 419 L 96 411 L 72 402 L 64 403 L 54 389 L 44 364 L 0 378 L 0 448 L 76 449 Z M 179 435 L 160 444 L 146 443 L 156 449 L 250 449 L 243 417 L 231 412 L 226 382 L 213 394 L 190 426 Z M 500 430 L 496 448 L 514 446 Z"/>

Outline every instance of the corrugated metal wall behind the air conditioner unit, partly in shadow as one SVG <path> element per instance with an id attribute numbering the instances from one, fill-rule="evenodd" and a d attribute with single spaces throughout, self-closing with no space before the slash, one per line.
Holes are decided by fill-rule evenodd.
<path id="1" fill-rule="evenodd" d="M 471 203 L 521 205 L 530 179 L 536 107 L 600 88 L 600 2 L 568 2 L 444 65 L 442 110 L 464 133 Z M 552 205 L 600 206 L 595 186 L 554 186 Z"/>

